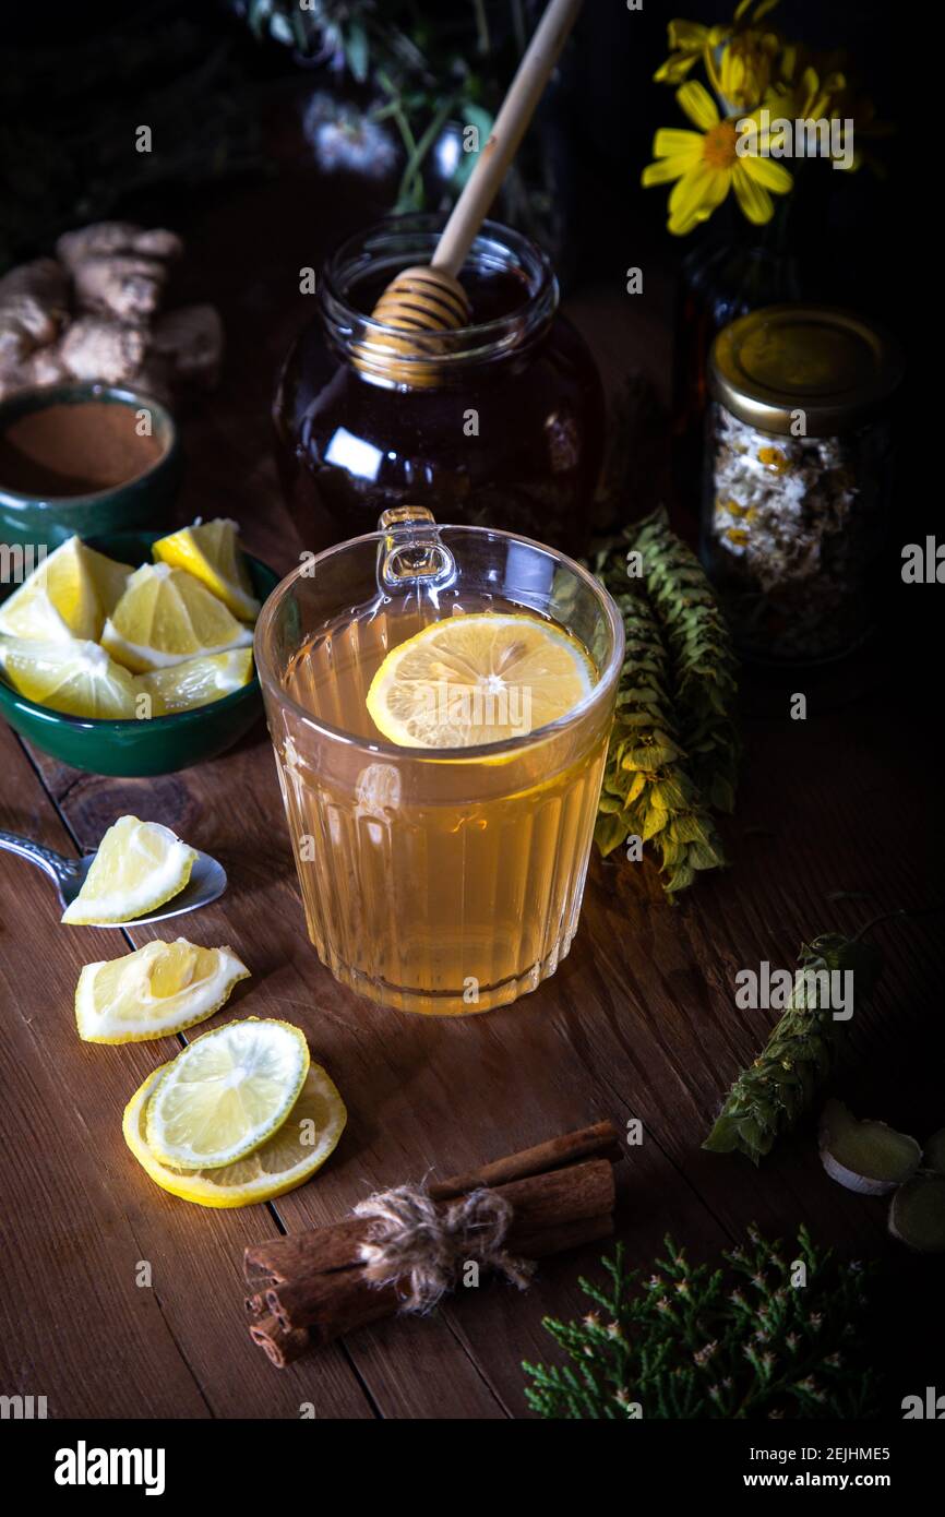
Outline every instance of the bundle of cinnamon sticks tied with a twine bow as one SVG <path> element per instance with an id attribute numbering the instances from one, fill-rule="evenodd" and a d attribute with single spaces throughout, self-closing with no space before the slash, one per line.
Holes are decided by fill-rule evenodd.
<path id="1" fill-rule="evenodd" d="M 284 1368 L 381 1317 L 431 1311 L 469 1262 L 523 1289 L 535 1259 L 613 1233 L 619 1157 L 616 1127 L 598 1123 L 256 1244 L 244 1255 L 250 1336 Z"/>

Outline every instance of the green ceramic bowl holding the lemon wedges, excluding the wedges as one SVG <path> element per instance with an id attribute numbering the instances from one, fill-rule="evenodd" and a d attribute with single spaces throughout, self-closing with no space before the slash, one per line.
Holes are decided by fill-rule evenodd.
<path id="1" fill-rule="evenodd" d="M 152 543 L 162 532 L 111 532 L 89 537 L 91 548 L 117 558 L 120 563 L 150 563 Z M 275 590 L 279 575 L 246 555 L 253 595 L 259 601 Z M 0 586 L 0 598 L 6 599 L 11 589 Z M 199 705 L 193 711 L 177 711 L 173 716 L 153 716 L 150 721 L 103 722 L 83 716 L 65 716 L 47 705 L 36 705 L 17 695 L 0 677 L 0 715 L 11 727 L 42 752 L 70 763 L 89 774 L 114 774 L 123 777 L 146 774 L 171 774 L 188 769 L 203 758 L 214 758 L 231 748 L 243 733 L 262 715 L 259 677 L 253 674 L 249 684 L 221 701 Z"/>

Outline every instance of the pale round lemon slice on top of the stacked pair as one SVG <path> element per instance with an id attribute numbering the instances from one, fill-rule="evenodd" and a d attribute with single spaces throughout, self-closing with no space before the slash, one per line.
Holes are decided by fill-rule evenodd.
<path id="1" fill-rule="evenodd" d="M 147 1147 L 171 1170 L 221 1170 L 282 1127 L 308 1074 L 291 1022 L 250 1016 L 196 1038 L 147 1103 Z"/>

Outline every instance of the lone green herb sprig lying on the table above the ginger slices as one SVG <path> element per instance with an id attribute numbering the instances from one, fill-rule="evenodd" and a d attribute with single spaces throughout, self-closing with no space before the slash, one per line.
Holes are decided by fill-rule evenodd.
<path id="1" fill-rule="evenodd" d="M 836 1056 L 837 1029 L 843 1024 L 834 1019 L 819 975 L 852 971 L 854 994 L 866 1000 L 881 968 L 880 950 L 860 938 L 827 933 L 802 945 L 801 972 L 795 975 L 784 1015 L 760 1056 L 733 1085 L 704 1148 L 740 1151 L 752 1164 L 771 1153 L 777 1138 L 808 1110 Z"/>

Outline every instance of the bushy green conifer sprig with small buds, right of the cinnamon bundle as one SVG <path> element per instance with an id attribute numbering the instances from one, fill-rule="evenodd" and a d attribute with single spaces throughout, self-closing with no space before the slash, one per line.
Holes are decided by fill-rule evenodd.
<path id="1" fill-rule="evenodd" d="M 714 1268 L 692 1265 L 672 1238 L 664 1247 L 640 1282 L 617 1244 L 604 1285 L 578 1282 L 593 1309 L 545 1318 L 570 1362 L 522 1365 L 540 1417 L 875 1415 L 878 1377 L 862 1353 L 871 1267 L 818 1248 L 805 1227 L 790 1253 L 749 1227 Z"/>

